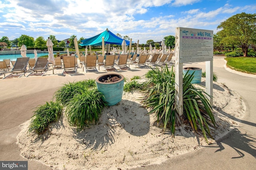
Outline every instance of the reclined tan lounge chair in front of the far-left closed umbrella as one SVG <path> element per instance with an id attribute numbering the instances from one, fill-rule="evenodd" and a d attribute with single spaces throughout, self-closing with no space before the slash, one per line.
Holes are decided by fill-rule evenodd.
<path id="1" fill-rule="evenodd" d="M 9 78 L 9 77 L 21 77 L 22 75 L 24 75 L 27 71 L 28 60 L 29 60 L 29 57 L 17 58 L 12 70 L 10 71 L 12 73 L 8 74 L 4 78 L 6 78 L 6 77 L 7 78 Z M 12 74 L 15 74 L 15 73 L 16 73 L 16 75 L 12 75 Z M 20 75 L 19 73 L 22 73 L 22 74 Z"/>

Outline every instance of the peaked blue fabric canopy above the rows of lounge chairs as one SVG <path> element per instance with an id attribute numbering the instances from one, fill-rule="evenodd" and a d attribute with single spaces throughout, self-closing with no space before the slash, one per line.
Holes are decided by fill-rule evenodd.
<path id="1" fill-rule="evenodd" d="M 86 45 L 102 45 L 102 37 L 104 37 L 105 44 L 116 44 L 122 45 L 123 39 L 114 35 L 111 31 L 106 29 L 106 31 L 95 35 L 94 37 L 84 39 L 81 41 L 79 45 L 86 46 Z M 130 41 L 126 41 L 126 45 L 130 45 Z"/>

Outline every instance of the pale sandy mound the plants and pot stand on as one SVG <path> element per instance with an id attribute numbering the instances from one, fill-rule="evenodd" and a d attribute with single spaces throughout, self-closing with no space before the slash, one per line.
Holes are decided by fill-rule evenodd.
<path id="1" fill-rule="evenodd" d="M 202 85 L 204 86 L 204 79 Z M 162 133 L 156 117 L 147 115 L 141 106 L 138 92 L 123 94 L 116 106 L 104 109 L 99 122 L 78 131 L 70 127 L 63 113 L 42 136 L 28 134 L 30 120 L 20 125 L 17 136 L 21 155 L 38 160 L 54 169 L 129 169 L 148 164 L 160 164 L 172 156 L 207 146 L 205 139 L 188 126 Z M 216 129 L 209 145 L 223 137 L 237 125 L 236 118 L 244 115 L 244 103 L 236 92 L 224 84 L 214 82 Z"/>

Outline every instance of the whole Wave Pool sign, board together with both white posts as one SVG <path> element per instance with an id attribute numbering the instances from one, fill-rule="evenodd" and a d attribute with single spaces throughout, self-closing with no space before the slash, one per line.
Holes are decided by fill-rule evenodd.
<path id="1" fill-rule="evenodd" d="M 183 114 L 183 63 L 206 61 L 206 93 L 212 96 L 213 31 L 176 28 L 175 39 L 175 100 L 176 109 Z M 209 99 L 212 105 L 212 98 Z"/>

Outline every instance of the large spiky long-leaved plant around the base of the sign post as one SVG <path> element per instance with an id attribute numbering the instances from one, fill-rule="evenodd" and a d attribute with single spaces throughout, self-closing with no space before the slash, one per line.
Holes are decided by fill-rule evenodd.
<path id="1" fill-rule="evenodd" d="M 191 84 L 193 74 L 185 74 L 183 78 L 183 111 L 180 117 L 175 108 L 175 73 L 173 68 L 164 67 L 159 70 L 157 67 L 151 71 L 148 78 L 145 96 L 142 98 L 144 107 L 151 108 L 148 114 L 155 113 L 157 122 L 163 123 L 163 131 L 169 126 L 172 134 L 179 122 L 188 121 L 192 129 L 198 132 L 200 127 L 204 138 L 206 133 L 210 135 L 209 125 L 215 126 L 214 116 L 208 98 L 204 90 L 196 88 Z"/>

